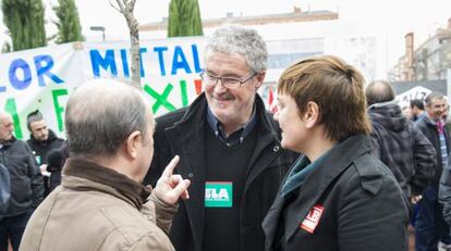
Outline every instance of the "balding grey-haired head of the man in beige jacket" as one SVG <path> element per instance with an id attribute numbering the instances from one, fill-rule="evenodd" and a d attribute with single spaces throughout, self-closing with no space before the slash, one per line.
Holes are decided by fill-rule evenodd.
<path id="1" fill-rule="evenodd" d="M 74 155 L 112 155 L 133 133 L 151 137 L 154 117 L 143 93 L 112 80 L 95 79 L 78 87 L 65 111 L 69 149 Z M 153 128 L 153 127 L 151 127 Z"/>

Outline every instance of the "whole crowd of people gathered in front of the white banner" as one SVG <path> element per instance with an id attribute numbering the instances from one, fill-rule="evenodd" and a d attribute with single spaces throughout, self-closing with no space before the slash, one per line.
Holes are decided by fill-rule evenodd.
<path id="1" fill-rule="evenodd" d="M 157 118 L 112 79 L 70 96 L 66 140 L 39 111 L 16 139 L 0 111 L 0 251 L 401 251 L 409 224 L 417 251 L 451 250 L 442 95 L 405 111 L 390 83 L 319 55 L 281 74 L 271 114 L 256 30 L 222 26 L 204 55 L 204 92 Z"/>

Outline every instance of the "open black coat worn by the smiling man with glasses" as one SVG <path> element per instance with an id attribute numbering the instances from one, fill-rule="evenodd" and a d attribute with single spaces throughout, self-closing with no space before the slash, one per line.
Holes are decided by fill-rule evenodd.
<path id="1" fill-rule="evenodd" d="M 285 175 L 297 154 L 282 150 L 279 142 L 279 127 L 266 112 L 256 96 L 258 122 L 257 143 L 254 150 L 240 208 L 241 250 L 263 250 L 264 233 L 261 221 Z M 205 149 L 207 101 L 200 95 L 190 108 L 157 118 L 155 133 L 155 155 L 145 184 L 155 185 L 169 161 L 180 155 L 176 172 L 188 178 L 190 200 L 181 202 L 170 233 L 176 250 L 203 249 L 205 218 Z M 227 161 L 227 160 L 218 160 Z"/>

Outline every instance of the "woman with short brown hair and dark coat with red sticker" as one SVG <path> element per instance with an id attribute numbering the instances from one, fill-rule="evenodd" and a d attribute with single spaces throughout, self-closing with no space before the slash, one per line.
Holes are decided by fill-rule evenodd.
<path id="1" fill-rule="evenodd" d="M 407 250 L 407 201 L 371 154 L 362 74 L 332 55 L 294 63 L 275 117 L 282 147 L 305 155 L 263 222 L 266 250 Z"/>

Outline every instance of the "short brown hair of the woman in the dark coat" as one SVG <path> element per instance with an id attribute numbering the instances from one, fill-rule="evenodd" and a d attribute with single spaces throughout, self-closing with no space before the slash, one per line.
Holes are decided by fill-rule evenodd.
<path id="1" fill-rule="evenodd" d="M 366 113 L 364 77 L 338 57 L 322 55 L 297 62 L 279 79 L 278 92 L 290 95 L 303 116 L 307 103 L 319 106 L 319 123 L 327 136 L 341 141 L 370 131 Z"/>

